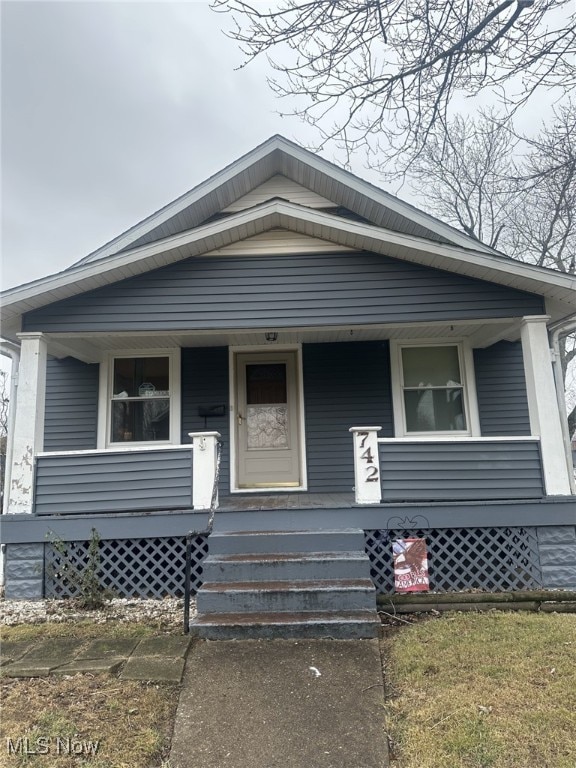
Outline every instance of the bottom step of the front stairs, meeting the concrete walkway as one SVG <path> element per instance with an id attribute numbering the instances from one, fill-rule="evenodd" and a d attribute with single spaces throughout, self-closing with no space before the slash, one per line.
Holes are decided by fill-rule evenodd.
<path id="1" fill-rule="evenodd" d="M 205 640 L 358 640 L 378 637 L 379 628 L 375 610 L 221 613 L 198 614 L 190 624 L 190 633 Z"/>

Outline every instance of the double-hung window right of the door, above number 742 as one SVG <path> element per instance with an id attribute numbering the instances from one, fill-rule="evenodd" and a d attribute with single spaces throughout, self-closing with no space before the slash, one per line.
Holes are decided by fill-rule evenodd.
<path id="1" fill-rule="evenodd" d="M 460 344 L 396 345 L 397 433 L 471 434 L 466 360 Z M 401 425 L 401 430 L 398 428 Z"/>

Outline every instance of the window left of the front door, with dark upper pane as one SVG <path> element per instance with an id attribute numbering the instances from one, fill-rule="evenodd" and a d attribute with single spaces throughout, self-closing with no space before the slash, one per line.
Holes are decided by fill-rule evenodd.
<path id="1" fill-rule="evenodd" d="M 109 359 L 108 415 L 102 442 L 175 442 L 179 430 L 179 404 L 174 391 L 177 359 L 175 353 Z"/>

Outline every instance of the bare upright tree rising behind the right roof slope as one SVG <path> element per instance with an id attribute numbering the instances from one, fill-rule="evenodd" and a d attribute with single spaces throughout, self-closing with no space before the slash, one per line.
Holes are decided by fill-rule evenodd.
<path id="1" fill-rule="evenodd" d="M 576 103 L 552 117 L 535 137 L 515 133 L 494 112 L 456 117 L 434 131 L 413 163 L 411 185 L 431 212 L 469 235 L 576 274 Z M 574 390 L 575 337 L 561 340 L 560 351 L 566 389 Z M 576 407 L 569 410 L 573 434 Z"/>

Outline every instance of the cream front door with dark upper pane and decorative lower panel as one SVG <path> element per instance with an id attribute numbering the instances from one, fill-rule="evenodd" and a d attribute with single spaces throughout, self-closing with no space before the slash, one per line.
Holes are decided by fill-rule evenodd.
<path id="1" fill-rule="evenodd" d="M 239 488 L 301 485 L 295 352 L 236 355 Z"/>

